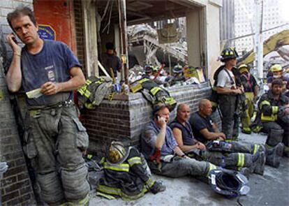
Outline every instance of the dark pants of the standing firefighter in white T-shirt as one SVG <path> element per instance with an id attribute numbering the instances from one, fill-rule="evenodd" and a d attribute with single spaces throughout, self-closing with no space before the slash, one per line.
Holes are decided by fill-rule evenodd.
<path id="1" fill-rule="evenodd" d="M 233 140 L 239 135 L 239 117 L 235 113 L 237 96 L 219 94 L 218 104 L 222 113 L 222 131 L 226 140 Z"/>

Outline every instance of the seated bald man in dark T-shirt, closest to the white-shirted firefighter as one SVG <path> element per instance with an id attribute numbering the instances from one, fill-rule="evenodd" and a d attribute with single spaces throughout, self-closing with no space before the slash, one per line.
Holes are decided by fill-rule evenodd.
<path id="1" fill-rule="evenodd" d="M 220 133 L 216 124 L 213 122 L 212 118 L 212 104 L 207 99 L 202 99 L 199 102 L 199 110 L 198 112 L 193 113 L 189 120 L 191 127 L 193 128 L 193 135 L 200 142 L 207 145 L 207 147 L 214 146 L 215 140 L 225 140 L 225 134 Z M 228 150 L 228 152 L 242 152 L 245 156 L 249 156 L 251 154 L 255 154 L 258 148 L 259 150 L 265 151 L 265 158 L 267 165 L 271 165 L 273 167 L 278 168 L 281 161 L 281 152 L 283 151 L 283 145 L 279 144 L 276 147 L 272 147 L 272 149 L 265 149 L 262 145 L 253 145 L 249 143 L 240 143 L 236 141 L 226 142 L 221 141 L 221 146 L 223 146 L 224 150 Z M 229 147 L 230 149 L 227 149 Z M 238 153 L 238 159 L 242 156 L 242 153 Z M 230 154 L 230 156 L 234 156 L 234 154 Z M 235 154 L 236 155 L 236 154 Z M 240 155 L 240 156 L 239 156 Z M 262 154 L 261 154 L 262 156 Z M 264 159 L 260 159 L 260 161 L 264 161 Z M 262 168 L 264 170 L 264 168 Z M 262 172 L 260 172 L 262 173 Z"/>

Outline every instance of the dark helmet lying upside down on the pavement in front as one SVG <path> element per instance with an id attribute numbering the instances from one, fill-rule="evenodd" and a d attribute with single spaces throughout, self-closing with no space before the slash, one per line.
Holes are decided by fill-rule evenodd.
<path id="1" fill-rule="evenodd" d="M 228 198 L 246 195 L 250 191 L 248 179 L 240 172 L 212 170 L 209 173 L 209 185 L 212 189 Z"/>

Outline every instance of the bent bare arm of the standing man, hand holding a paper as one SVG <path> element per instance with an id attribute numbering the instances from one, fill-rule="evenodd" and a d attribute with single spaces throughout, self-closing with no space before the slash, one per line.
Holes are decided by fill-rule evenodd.
<path id="1" fill-rule="evenodd" d="M 70 70 L 71 79 L 67 82 L 45 82 L 41 86 L 41 92 L 45 95 L 57 94 L 61 91 L 73 91 L 85 83 L 84 75 L 79 67 Z"/>

